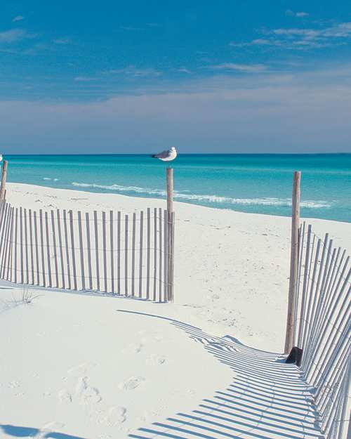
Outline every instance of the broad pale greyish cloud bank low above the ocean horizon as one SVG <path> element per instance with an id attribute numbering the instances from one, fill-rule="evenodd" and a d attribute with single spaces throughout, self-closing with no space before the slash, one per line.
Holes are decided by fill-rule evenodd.
<path id="1" fill-rule="evenodd" d="M 341 70 L 340 70 L 341 68 Z M 146 152 L 170 138 L 194 152 L 347 152 L 351 65 L 189 81 L 179 92 L 96 102 L 0 101 L 8 152 Z M 18 130 L 18 126 L 21 129 Z M 86 133 L 88 132 L 88 136 Z M 140 134 L 141 133 L 141 134 Z M 27 148 L 27 149 L 25 149 Z"/>

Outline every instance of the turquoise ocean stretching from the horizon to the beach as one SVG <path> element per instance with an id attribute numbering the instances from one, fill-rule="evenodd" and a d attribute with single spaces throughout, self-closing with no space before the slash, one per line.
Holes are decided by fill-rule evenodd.
<path id="1" fill-rule="evenodd" d="M 165 197 L 166 164 L 148 155 L 6 155 L 8 181 L 131 197 Z M 175 199 L 289 216 L 293 171 L 301 214 L 351 222 L 351 154 L 178 155 Z"/>

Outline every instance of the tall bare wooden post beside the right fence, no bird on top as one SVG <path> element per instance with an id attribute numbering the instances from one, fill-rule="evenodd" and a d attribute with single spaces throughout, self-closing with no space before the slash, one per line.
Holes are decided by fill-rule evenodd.
<path id="1" fill-rule="evenodd" d="M 300 227 L 300 181 L 301 172 L 293 173 L 293 206 L 291 215 L 291 253 L 290 253 L 290 280 L 288 315 L 286 318 L 286 336 L 284 353 L 289 353 L 293 348 L 293 332 L 296 322 L 294 321 L 296 307 L 296 287 L 298 280 L 298 228 Z"/>

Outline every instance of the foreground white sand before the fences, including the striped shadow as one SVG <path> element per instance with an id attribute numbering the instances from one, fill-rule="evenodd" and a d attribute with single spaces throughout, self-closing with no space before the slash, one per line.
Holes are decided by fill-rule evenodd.
<path id="1" fill-rule="evenodd" d="M 0 287 L 1 438 L 317 436 L 295 365 L 182 323 L 201 325 L 187 308 Z"/>

